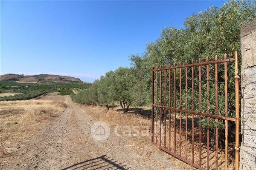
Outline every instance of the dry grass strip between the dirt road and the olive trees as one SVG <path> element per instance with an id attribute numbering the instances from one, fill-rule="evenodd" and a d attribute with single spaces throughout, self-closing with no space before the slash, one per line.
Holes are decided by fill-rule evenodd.
<path id="1" fill-rule="evenodd" d="M 87 112 L 95 118 L 96 120 L 102 121 L 102 122 L 108 122 L 108 125 L 110 125 L 112 128 L 119 125 L 119 126 L 147 126 L 148 127 L 148 134 L 151 133 L 151 120 L 147 119 L 139 113 L 140 111 L 133 111 L 132 113 L 123 114 L 122 111 L 116 110 L 119 109 L 113 108 L 113 109 L 105 109 L 102 106 L 80 106 L 80 107 L 88 107 L 90 108 L 91 112 Z M 148 108 L 146 108 L 148 109 Z M 140 132 L 141 130 L 145 130 L 145 128 L 137 128 Z M 122 129 L 120 129 L 122 130 Z M 119 134 L 122 134 L 122 132 L 118 132 Z M 179 159 L 176 159 L 174 156 L 169 155 L 168 153 L 162 152 L 157 147 L 152 147 L 151 144 L 151 136 L 126 136 L 131 140 L 131 143 L 134 144 L 134 147 L 139 148 L 138 150 L 141 151 L 141 153 L 138 154 L 145 154 L 148 153 L 148 156 L 153 156 L 154 153 L 159 153 L 161 155 L 166 156 L 172 164 L 174 164 L 177 167 L 180 167 L 180 169 L 184 170 L 192 170 L 193 168 L 184 163 L 183 161 L 180 161 Z"/>

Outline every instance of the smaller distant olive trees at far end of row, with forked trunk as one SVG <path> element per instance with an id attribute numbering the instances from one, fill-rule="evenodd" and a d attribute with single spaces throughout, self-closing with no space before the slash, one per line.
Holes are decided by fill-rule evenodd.
<path id="1" fill-rule="evenodd" d="M 100 77 L 88 91 L 79 92 L 76 96 L 72 95 L 72 99 L 74 102 L 97 103 L 105 105 L 107 108 L 114 102 L 119 102 L 126 113 L 131 105 L 134 84 L 132 69 L 120 67 L 115 72 L 109 71 L 105 76 Z"/>

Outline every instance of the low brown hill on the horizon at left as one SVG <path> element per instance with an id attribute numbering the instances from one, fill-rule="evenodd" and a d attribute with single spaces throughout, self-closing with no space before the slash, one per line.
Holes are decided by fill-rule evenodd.
<path id="1" fill-rule="evenodd" d="M 51 74 L 38 74 L 24 76 L 23 74 L 3 74 L 0 81 L 18 81 L 18 82 L 82 82 L 80 79 L 69 76 L 59 76 Z"/>

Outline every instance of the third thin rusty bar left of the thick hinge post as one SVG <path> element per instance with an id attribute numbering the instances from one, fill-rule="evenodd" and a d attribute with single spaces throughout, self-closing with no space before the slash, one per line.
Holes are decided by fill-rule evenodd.
<path id="1" fill-rule="evenodd" d="M 209 57 L 206 57 L 206 61 L 209 61 Z M 209 114 L 209 64 L 206 65 L 207 68 L 207 113 Z M 209 125 L 209 116 L 207 116 L 207 125 Z M 209 128 L 207 128 L 207 165 L 206 169 L 209 170 Z"/>

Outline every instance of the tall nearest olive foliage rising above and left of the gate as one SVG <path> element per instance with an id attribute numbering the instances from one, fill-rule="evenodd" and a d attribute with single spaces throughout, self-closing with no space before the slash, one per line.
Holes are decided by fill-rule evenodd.
<path id="1" fill-rule="evenodd" d="M 242 24 L 256 19 L 255 1 L 228 1 L 221 8 L 210 7 L 204 12 L 186 18 L 183 28 L 164 28 L 156 42 L 147 45 L 142 56 L 132 55 L 131 62 L 143 86 L 146 104 L 150 100 L 151 66 L 159 66 L 174 62 L 198 62 L 201 57 L 214 60 L 215 55 L 222 58 L 224 53 L 233 56 L 240 51 L 240 28 Z M 239 58 L 241 61 L 241 58 Z M 241 62 L 239 62 L 241 63 Z M 234 66 L 228 70 L 233 77 Z M 223 68 L 222 68 L 223 69 Z M 221 72 L 223 70 L 219 70 Z M 214 74 L 214 72 L 213 72 Z M 211 74 L 210 77 L 214 78 Z"/>

